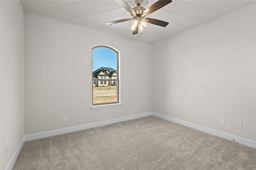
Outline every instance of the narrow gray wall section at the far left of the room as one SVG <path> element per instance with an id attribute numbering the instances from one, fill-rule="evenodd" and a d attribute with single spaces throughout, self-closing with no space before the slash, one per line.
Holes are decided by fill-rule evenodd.
<path id="1" fill-rule="evenodd" d="M 20 1 L 1 0 L 1 170 L 24 137 L 24 12 Z M 6 155 L 6 144 L 9 152 Z"/>

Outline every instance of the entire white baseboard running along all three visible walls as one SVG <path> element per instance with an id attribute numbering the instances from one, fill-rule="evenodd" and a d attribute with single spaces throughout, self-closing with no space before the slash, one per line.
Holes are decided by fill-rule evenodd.
<path id="1" fill-rule="evenodd" d="M 180 125 L 184 125 L 186 127 L 194 128 L 194 129 L 200 130 L 202 132 L 213 134 L 213 135 L 219 136 L 221 138 L 225 138 L 225 139 L 228 139 L 228 140 L 233 140 L 234 139 L 238 143 L 244 144 L 246 146 L 250 146 L 252 148 L 256 148 L 256 141 L 254 141 L 254 140 L 242 138 L 242 137 L 239 137 L 239 136 L 235 136 L 235 135 L 228 134 L 228 133 L 225 133 L 225 132 L 221 132 L 221 131 L 218 131 L 218 130 L 214 130 L 214 129 L 211 129 L 211 128 L 203 127 L 203 126 L 200 126 L 200 125 L 196 125 L 196 124 L 193 124 L 193 123 L 189 123 L 189 122 L 186 122 L 186 121 L 182 121 L 182 120 L 179 120 L 179 119 L 175 119 L 175 118 L 172 118 L 172 117 L 161 115 L 161 114 L 158 114 L 158 113 L 148 112 L 148 113 L 142 113 L 142 114 L 138 114 L 138 115 L 121 117 L 121 118 L 117 118 L 117 119 L 110 119 L 110 120 L 96 122 L 96 123 L 89 123 L 89 124 L 86 124 L 86 125 L 80 125 L 80 126 L 75 126 L 75 127 L 68 127 L 68 128 L 57 129 L 57 130 L 50 130 L 50 131 L 47 131 L 47 132 L 25 135 L 24 138 L 22 139 L 22 141 L 20 142 L 20 145 L 17 148 L 14 156 L 12 157 L 11 162 L 9 163 L 9 165 L 7 166 L 6 169 L 7 170 L 12 169 L 12 167 L 15 164 L 15 161 L 17 160 L 17 158 L 20 154 L 22 146 L 24 145 L 24 142 L 26 142 L 26 141 L 36 140 L 36 139 L 40 139 L 40 138 L 46 138 L 46 137 L 55 136 L 55 135 L 58 135 L 58 134 L 65 134 L 65 133 L 69 133 L 69 132 L 75 132 L 75 131 L 78 131 L 78 130 L 84 130 L 84 129 L 88 129 L 88 128 L 100 127 L 100 126 L 109 125 L 109 124 L 118 123 L 118 122 L 123 122 L 123 121 L 129 121 L 129 120 L 132 120 L 132 119 L 138 119 L 138 118 L 141 118 L 141 117 L 146 117 L 146 116 L 151 116 L 151 115 L 153 115 L 155 117 L 159 117 L 161 119 L 165 119 L 165 120 L 170 121 L 170 122 L 174 122 L 174 123 L 178 123 Z"/>

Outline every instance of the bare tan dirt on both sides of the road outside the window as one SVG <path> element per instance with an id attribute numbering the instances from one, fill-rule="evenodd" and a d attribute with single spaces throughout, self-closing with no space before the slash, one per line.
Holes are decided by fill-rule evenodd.
<path id="1" fill-rule="evenodd" d="M 116 90 L 116 86 L 104 86 L 104 87 L 93 87 L 93 91 L 108 91 L 108 90 Z M 110 103 L 116 102 L 116 95 L 94 95 L 93 103 Z"/>

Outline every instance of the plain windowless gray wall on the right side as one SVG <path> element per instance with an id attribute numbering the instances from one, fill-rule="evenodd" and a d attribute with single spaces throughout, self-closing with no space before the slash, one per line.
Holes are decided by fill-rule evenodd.
<path id="1" fill-rule="evenodd" d="M 153 111 L 255 141 L 255 11 L 252 4 L 155 43 Z"/>

